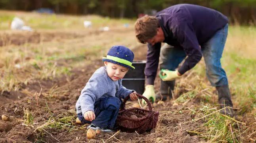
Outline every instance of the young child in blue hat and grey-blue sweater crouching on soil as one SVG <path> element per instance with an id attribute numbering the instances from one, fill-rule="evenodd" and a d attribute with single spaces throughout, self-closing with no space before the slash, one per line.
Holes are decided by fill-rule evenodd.
<path id="1" fill-rule="evenodd" d="M 113 46 L 103 57 L 105 67 L 97 69 L 89 79 L 76 102 L 78 119 L 91 123 L 88 128 L 111 132 L 121 105 L 120 98 L 128 95 L 138 99 L 136 91 L 122 86 L 122 78 L 132 66 L 134 53 L 124 46 Z"/>

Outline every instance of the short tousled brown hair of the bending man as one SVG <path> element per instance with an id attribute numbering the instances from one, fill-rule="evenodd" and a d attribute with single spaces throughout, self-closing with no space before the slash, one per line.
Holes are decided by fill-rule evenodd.
<path id="1" fill-rule="evenodd" d="M 147 40 L 157 35 L 157 28 L 159 27 L 159 21 L 156 17 L 145 15 L 135 22 L 136 38 L 140 43 L 145 44 Z"/>

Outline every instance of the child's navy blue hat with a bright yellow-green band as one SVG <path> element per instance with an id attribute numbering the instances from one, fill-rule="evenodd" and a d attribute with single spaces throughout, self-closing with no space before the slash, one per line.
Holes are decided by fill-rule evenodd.
<path id="1" fill-rule="evenodd" d="M 102 61 L 109 61 L 134 70 L 135 67 L 132 66 L 133 59 L 134 54 L 129 48 L 125 46 L 113 46 L 107 53 L 107 57 L 102 58 Z"/>

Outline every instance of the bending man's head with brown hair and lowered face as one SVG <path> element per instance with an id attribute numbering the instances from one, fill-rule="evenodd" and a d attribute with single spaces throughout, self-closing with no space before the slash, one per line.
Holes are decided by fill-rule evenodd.
<path id="1" fill-rule="evenodd" d="M 164 41 L 164 33 L 159 25 L 159 20 L 154 16 L 145 15 L 135 22 L 135 33 L 140 43 L 155 43 Z"/>

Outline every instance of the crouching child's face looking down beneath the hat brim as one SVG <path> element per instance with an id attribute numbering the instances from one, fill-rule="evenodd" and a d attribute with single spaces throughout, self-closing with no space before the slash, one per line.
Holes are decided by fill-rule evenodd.
<path id="1" fill-rule="evenodd" d="M 129 71 L 127 67 L 123 67 L 121 65 L 104 61 L 105 66 L 107 67 L 107 75 L 113 81 L 120 80 L 124 77 L 126 72 Z"/>

